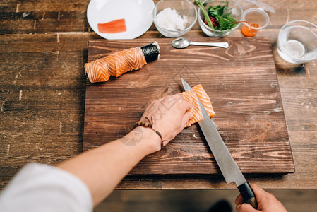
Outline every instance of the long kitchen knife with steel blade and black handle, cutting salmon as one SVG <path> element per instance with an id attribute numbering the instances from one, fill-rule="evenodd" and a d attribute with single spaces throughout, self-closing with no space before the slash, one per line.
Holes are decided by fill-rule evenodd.
<path id="1" fill-rule="evenodd" d="M 183 83 L 185 91 L 193 90 L 183 78 L 181 79 L 181 82 Z M 214 122 L 210 119 L 205 108 L 201 104 L 201 100 L 199 100 L 199 98 L 197 99 L 203 114 L 203 120 L 198 122 L 198 124 L 201 127 L 201 131 L 203 131 L 203 135 L 205 136 L 205 140 L 207 141 L 210 150 L 213 152 L 213 156 L 215 157 L 223 177 L 225 177 L 227 184 L 235 182 L 244 201 L 257 209 L 258 202 L 256 201 L 256 195 L 254 194 L 253 189 L 249 182 L 244 178 L 244 175 L 242 175 L 234 158 L 232 158 L 232 155 L 217 131 Z"/>

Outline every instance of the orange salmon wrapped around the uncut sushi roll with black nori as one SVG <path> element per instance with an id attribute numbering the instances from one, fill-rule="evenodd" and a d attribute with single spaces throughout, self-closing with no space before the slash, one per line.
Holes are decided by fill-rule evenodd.
<path id="1" fill-rule="evenodd" d="M 138 70 L 145 64 L 141 47 L 134 47 L 85 64 L 85 72 L 91 83 L 105 82 L 110 76 L 121 76 L 122 73 Z"/>

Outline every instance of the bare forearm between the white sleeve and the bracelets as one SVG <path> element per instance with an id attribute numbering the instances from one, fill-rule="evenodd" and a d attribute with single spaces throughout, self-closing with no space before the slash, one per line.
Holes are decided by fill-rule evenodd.
<path id="1" fill-rule="evenodd" d="M 138 128 L 140 140 L 136 145 L 126 146 L 124 139 L 133 139 L 135 134 L 136 129 L 123 139 L 87 151 L 57 167 L 82 179 L 90 189 L 94 205 L 97 205 L 145 155 L 160 150 L 160 137 L 143 127 Z"/>

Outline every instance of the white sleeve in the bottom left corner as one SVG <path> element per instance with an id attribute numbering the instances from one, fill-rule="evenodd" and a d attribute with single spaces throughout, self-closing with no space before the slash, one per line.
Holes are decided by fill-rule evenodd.
<path id="1" fill-rule="evenodd" d="M 25 165 L 0 196 L 0 211 L 92 211 L 88 187 L 65 170 Z"/>

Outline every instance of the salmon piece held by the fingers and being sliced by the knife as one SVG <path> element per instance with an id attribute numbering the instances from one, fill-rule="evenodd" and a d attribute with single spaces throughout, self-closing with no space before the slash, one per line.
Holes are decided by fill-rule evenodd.
<path id="1" fill-rule="evenodd" d="M 193 107 L 190 112 L 193 113 L 193 118 L 189 120 L 189 122 L 186 123 L 185 127 L 191 126 L 191 124 L 194 124 L 196 122 L 200 122 L 203 120 L 203 114 L 201 113 L 201 107 L 199 106 L 198 99 L 196 98 L 196 95 L 201 100 L 201 104 L 203 104 L 203 107 L 205 107 L 206 112 L 208 113 L 209 117 L 214 117 L 215 112 L 213 111 L 213 105 L 211 105 L 210 98 L 205 93 L 205 90 L 203 90 L 203 86 L 201 84 L 193 87 L 193 90 L 188 90 L 186 92 L 181 93 L 181 95 L 186 98 Z"/>

